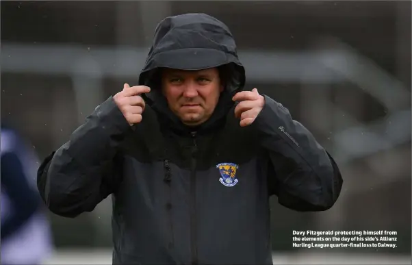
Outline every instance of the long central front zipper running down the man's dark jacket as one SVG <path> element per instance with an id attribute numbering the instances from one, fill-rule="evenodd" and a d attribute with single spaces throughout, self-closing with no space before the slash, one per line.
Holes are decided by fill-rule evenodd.
<path id="1" fill-rule="evenodd" d="M 192 132 L 193 146 L 190 162 L 190 250 L 192 253 L 192 265 L 198 264 L 197 256 L 197 220 L 196 220 L 196 132 Z"/>

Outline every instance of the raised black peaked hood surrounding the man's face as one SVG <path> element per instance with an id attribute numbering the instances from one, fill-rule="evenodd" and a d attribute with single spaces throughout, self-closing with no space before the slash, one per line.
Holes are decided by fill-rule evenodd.
<path id="1" fill-rule="evenodd" d="M 158 112 L 162 123 L 174 129 L 188 128 L 169 110 L 160 89 L 159 68 L 201 70 L 225 66 L 226 87 L 214 114 L 200 127 L 201 131 L 214 127 L 233 106 L 231 98 L 242 90 L 245 82 L 244 67 L 237 57 L 235 40 L 229 28 L 207 14 L 181 14 L 165 18 L 157 25 L 153 45 L 139 76 L 139 85 L 149 86 L 151 92 L 142 95 L 146 104 Z"/>

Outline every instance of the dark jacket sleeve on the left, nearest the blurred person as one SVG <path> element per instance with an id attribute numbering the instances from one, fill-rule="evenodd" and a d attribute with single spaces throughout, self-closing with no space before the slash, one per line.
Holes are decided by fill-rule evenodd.
<path id="1" fill-rule="evenodd" d="M 65 217 L 91 212 L 114 192 L 121 175 L 114 170 L 116 151 L 127 130 L 129 124 L 110 97 L 45 158 L 37 186 L 51 212 Z"/>

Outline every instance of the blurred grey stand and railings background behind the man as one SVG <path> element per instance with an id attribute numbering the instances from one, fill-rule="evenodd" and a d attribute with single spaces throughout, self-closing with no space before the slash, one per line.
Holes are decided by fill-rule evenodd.
<path id="1" fill-rule="evenodd" d="M 205 12 L 231 29 L 246 88 L 281 102 L 335 157 L 327 212 L 272 198 L 275 264 L 411 264 L 411 1 L 1 1 L 1 123 L 40 159 L 137 84 L 157 23 Z M 111 264 L 111 199 L 48 214 L 47 264 Z M 396 249 L 293 249 L 292 230 L 388 230 Z"/>

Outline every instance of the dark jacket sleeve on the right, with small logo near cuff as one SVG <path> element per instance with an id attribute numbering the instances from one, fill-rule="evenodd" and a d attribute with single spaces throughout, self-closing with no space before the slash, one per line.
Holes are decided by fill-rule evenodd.
<path id="1" fill-rule="evenodd" d="M 343 184 L 337 164 L 281 103 L 264 97 L 266 103 L 253 126 L 268 155 L 270 194 L 292 210 L 328 210 Z"/>

